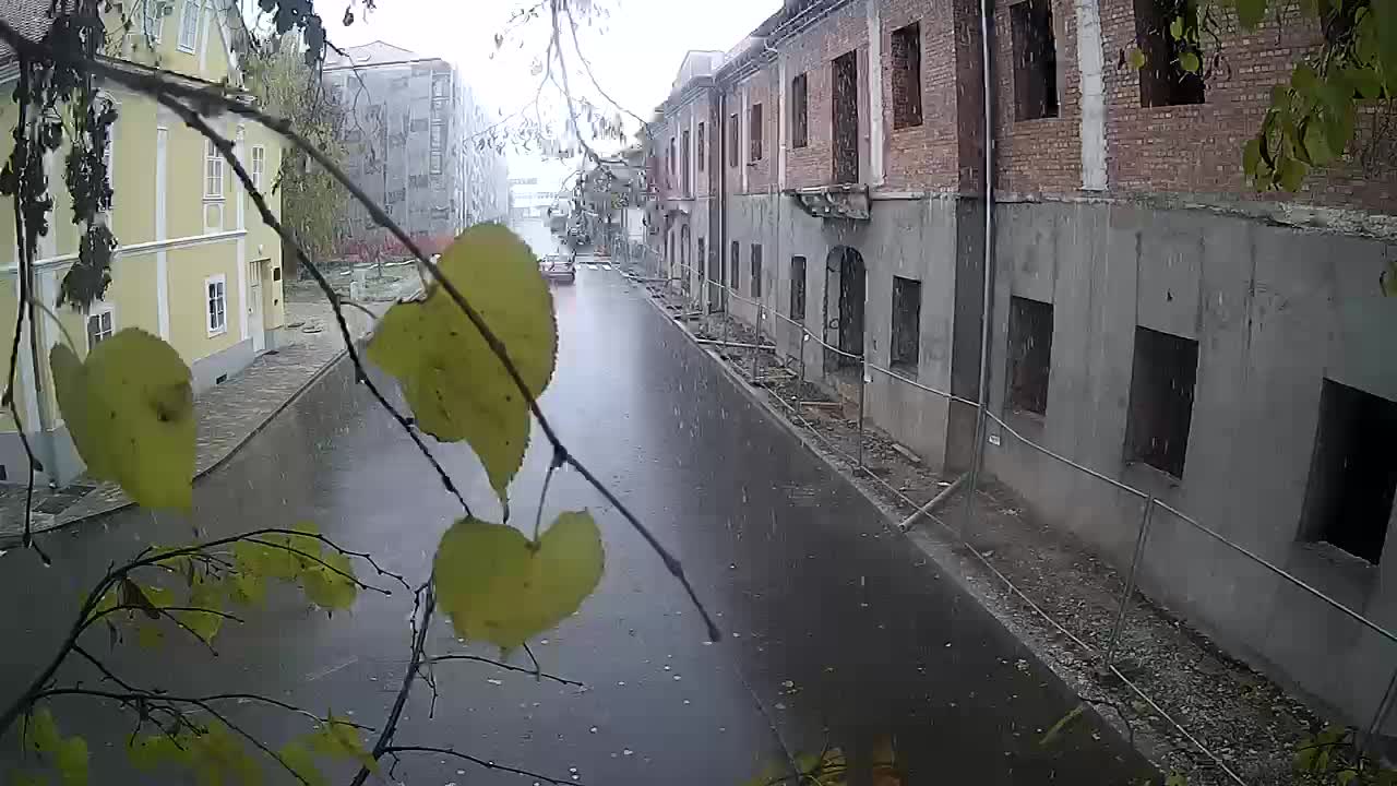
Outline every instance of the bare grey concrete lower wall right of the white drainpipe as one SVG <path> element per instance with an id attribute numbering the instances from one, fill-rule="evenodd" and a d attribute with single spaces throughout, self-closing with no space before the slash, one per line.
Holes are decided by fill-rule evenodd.
<path id="1" fill-rule="evenodd" d="M 1376 287 L 1390 246 L 1133 206 L 1009 204 L 996 214 L 992 411 L 1397 627 L 1397 527 L 1379 565 L 1306 543 L 1299 529 L 1324 378 L 1397 400 L 1383 341 L 1397 334 L 1397 303 Z M 1006 403 L 1011 295 L 1053 305 L 1044 415 Z M 1179 478 L 1125 452 L 1136 326 L 1199 343 Z M 1139 499 L 1009 435 L 986 446 L 986 466 L 1038 516 L 1129 562 Z M 1368 720 L 1397 659 L 1397 646 L 1168 513 L 1154 516 L 1141 583 L 1351 720 Z"/>

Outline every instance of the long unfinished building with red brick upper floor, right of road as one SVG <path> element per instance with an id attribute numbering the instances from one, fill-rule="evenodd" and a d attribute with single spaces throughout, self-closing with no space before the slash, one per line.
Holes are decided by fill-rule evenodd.
<path id="1" fill-rule="evenodd" d="M 1397 459 L 1362 446 L 1397 438 L 1397 299 L 1377 285 L 1397 168 L 1345 158 L 1256 194 L 1242 145 L 1315 27 L 1287 7 L 1224 32 L 1206 81 L 1164 84 L 1125 64 L 1151 7 L 993 4 L 986 91 L 978 1 L 788 1 L 722 57 L 686 60 L 659 106 L 652 245 L 696 302 L 760 324 L 828 387 L 862 371 L 868 417 L 932 466 L 968 464 L 975 410 L 905 380 L 975 400 L 983 351 L 986 407 L 1016 432 L 1397 629 Z M 1039 519 L 1129 562 L 1137 499 L 986 436 L 986 470 Z M 1397 646 L 1168 519 L 1140 568 L 1150 594 L 1372 716 Z"/>

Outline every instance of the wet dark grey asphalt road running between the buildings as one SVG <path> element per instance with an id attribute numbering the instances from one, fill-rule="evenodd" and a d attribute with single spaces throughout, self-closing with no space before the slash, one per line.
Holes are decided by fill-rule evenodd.
<path id="1" fill-rule="evenodd" d="M 704 643 L 697 614 L 659 559 L 576 474 L 559 473 L 546 513 L 591 508 L 608 565 L 581 613 L 534 652 L 546 671 L 588 688 L 441 664 L 433 716 L 430 691 L 419 688 L 400 744 L 455 747 L 613 785 L 738 785 L 781 761 L 782 744 L 817 751 L 826 740 L 855 747 L 880 737 L 895 740 L 905 783 L 1113 785 L 1150 773 L 1123 741 L 1090 723 L 1039 745 L 1073 706 L 1048 671 L 619 273 L 581 270 L 574 285 L 555 288 L 555 299 L 562 343 L 545 411 L 683 561 L 725 639 Z M 469 450 L 434 450 L 472 508 L 497 516 Z M 511 490 L 515 522 L 532 522 L 548 459 L 535 441 Z M 110 561 L 144 543 L 184 541 L 193 523 L 218 536 L 314 520 L 348 548 L 420 580 L 458 513 L 341 365 L 198 484 L 193 517 L 130 510 L 49 536 L 53 568 L 29 552 L 0 557 L 13 621 L 0 695 L 32 678 Z M 288 593 L 246 624 L 225 627 L 217 657 L 187 641 L 158 652 L 129 641 L 113 650 L 101 631 L 88 646 L 137 684 L 258 691 L 376 724 L 404 669 L 409 610 L 411 593 L 401 587 L 388 597 L 363 594 L 352 614 L 334 618 Z M 439 655 L 465 650 L 440 622 L 430 642 Z M 515 663 L 525 663 L 522 653 Z M 81 664 L 66 674 L 96 685 Z M 272 740 L 303 729 L 279 710 L 226 710 Z M 88 699 L 61 701 L 56 713 L 66 733 L 91 736 L 95 783 L 152 782 L 124 768 L 129 717 Z M 13 750 L 4 747 L 7 761 Z M 418 754 L 394 775 L 433 786 L 532 782 Z M 271 771 L 272 782 L 284 776 Z"/>

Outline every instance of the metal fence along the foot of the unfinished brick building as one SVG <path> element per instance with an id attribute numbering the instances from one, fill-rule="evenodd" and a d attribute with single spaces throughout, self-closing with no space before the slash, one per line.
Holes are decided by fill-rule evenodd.
<path id="1" fill-rule="evenodd" d="M 985 569 L 988 569 L 992 575 L 995 575 L 999 580 L 1002 580 L 1010 593 L 1023 600 L 1038 617 L 1046 621 L 1053 629 L 1067 636 L 1076 646 L 1078 646 L 1083 650 L 1084 655 L 1087 655 L 1091 659 L 1095 659 L 1102 669 L 1105 669 L 1109 674 L 1116 677 L 1132 694 L 1134 694 L 1140 701 L 1148 705 L 1154 713 L 1162 717 L 1192 745 L 1194 745 L 1200 752 L 1203 752 L 1229 780 L 1242 786 L 1248 786 L 1246 780 L 1241 775 L 1238 775 L 1235 769 L 1227 761 L 1222 759 L 1222 757 L 1220 757 L 1214 750 L 1211 750 L 1203 740 L 1197 738 L 1197 736 L 1194 736 L 1187 727 L 1185 727 L 1185 724 L 1180 723 L 1173 715 L 1166 712 L 1165 708 L 1161 706 L 1161 703 L 1154 696 L 1151 696 L 1150 692 L 1144 689 L 1144 687 L 1141 687 L 1137 680 L 1133 680 L 1119 667 L 1120 666 L 1119 645 L 1122 642 L 1122 636 L 1129 632 L 1132 599 L 1136 596 L 1136 592 L 1139 589 L 1137 580 L 1140 576 L 1140 566 L 1148 555 L 1151 534 L 1160 537 L 1161 530 L 1168 530 L 1169 537 L 1176 541 L 1178 538 L 1197 538 L 1200 543 L 1214 541 L 1222 545 L 1228 552 L 1235 554 L 1236 557 L 1243 559 L 1245 564 L 1253 566 L 1257 572 L 1273 573 L 1274 576 L 1282 579 L 1282 582 L 1285 582 L 1287 586 L 1292 587 L 1298 593 L 1301 603 L 1313 603 L 1317 606 L 1327 607 L 1333 611 L 1337 611 L 1340 614 L 1340 618 L 1347 621 L 1345 625 L 1351 625 L 1354 631 L 1356 631 L 1359 635 L 1370 635 L 1375 636 L 1377 641 L 1383 642 L 1383 646 L 1390 648 L 1389 650 L 1390 656 L 1384 662 L 1397 664 L 1397 634 L 1394 634 L 1393 631 L 1370 620 L 1361 611 L 1356 611 L 1345 606 L 1344 603 L 1338 601 L 1330 594 L 1312 586 L 1309 582 L 1278 566 L 1275 562 L 1256 554 L 1248 547 L 1221 534 L 1215 529 L 1199 522 L 1196 517 L 1158 499 L 1155 495 L 1134 488 L 1132 485 L 1127 485 L 1125 483 L 1120 483 L 1119 480 L 1112 478 L 1105 473 L 1094 470 L 1085 464 L 1081 464 L 1080 462 L 1074 462 L 1067 456 L 1056 453 L 1049 448 L 1034 442 L 1032 439 L 1024 436 L 1020 431 L 1014 429 L 1013 425 L 1004 422 L 1004 420 L 996 415 L 993 411 L 990 411 L 989 407 L 981 408 L 979 403 L 975 400 L 954 396 L 947 390 L 939 390 L 915 379 L 909 379 L 905 375 L 901 375 L 893 369 L 883 368 L 879 366 L 877 364 L 869 362 L 868 358 L 865 358 L 863 355 L 849 354 L 840 350 L 838 347 L 833 347 L 828 343 L 826 343 L 820 336 L 812 333 L 805 326 L 803 322 L 793 320 L 789 316 L 782 315 L 775 309 L 771 309 L 759 299 L 746 298 L 739 292 L 736 292 L 726 283 L 712 281 L 708 276 L 700 278 L 700 285 L 697 287 L 697 292 L 690 292 L 690 283 L 694 280 L 694 270 L 692 269 L 692 266 L 682 263 L 672 263 L 672 264 L 665 263 L 664 260 L 659 259 L 658 255 L 654 253 L 652 249 L 644 249 L 641 253 L 637 253 L 633 257 L 633 262 L 636 264 L 640 264 L 647 273 L 647 277 L 641 280 L 648 280 L 655 283 L 665 281 L 671 287 L 673 284 L 682 284 L 683 294 L 690 299 L 690 302 L 693 302 L 693 305 L 701 309 L 700 313 L 704 315 L 710 313 L 710 306 L 715 302 L 715 299 L 721 301 L 725 305 L 725 308 L 722 308 L 721 310 L 726 312 L 725 316 L 729 317 L 732 316 L 731 303 L 733 302 L 745 303 L 749 308 L 752 308 L 754 313 L 754 324 L 752 327 L 757 331 L 759 340 L 750 344 L 738 343 L 735 348 L 746 347 L 747 351 L 752 354 L 753 378 L 757 376 L 759 352 L 774 351 L 778 355 L 781 352 L 781 347 L 778 345 L 778 334 L 775 331 L 775 326 L 778 324 L 788 326 L 787 329 L 788 337 L 791 334 L 799 336 L 799 338 L 795 340 L 795 343 L 799 345 L 799 350 L 795 352 L 796 355 L 799 355 L 799 362 L 798 362 L 799 371 L 796 372 L 799 383 L 803 385 L 805 382 L 809 380 L 806 375 L 806 359 L 805 359 L 806 345 L 809 343 L 814 343 L 820 348 L 823 348 L 828 354 L 827 357 L 842 357 L 858 365 L 858 394 L 856 394 L 858 431 L 861 439 L 859 439 L 859 449 L 855 452 L 855 455 L 849 455 L 848 452 L 842 450 L 838 445 L 835 445 L 834 441 L 826 438 L 820 432 L 820 429 L 814 428 L 814 425 L 800 411 L 799 400 L 795 404 L 785 401 L 784 397 L 781 396 L 773 396 L 771 400 L 781 403 L 781 406 L 793 417 L 795 421 L 798 421 L 800 425 L 809 429 L 809 432 L 816 438 L 819 438 L 828 449 L 842 456 L 842 459 L 848 462 L 849 466 L 855 469 L 855 471 L 858 471 L 863 477 L 868 477 L 872 483 L 880 485 L 887 492 L 898 498 L 902 503 L 916 510 L 905 522 L 902 522 L 904 530 L 912 526 L 915 520 L 921 516 L 926 516 L 930 520 L 940 524 L 942 527 L 944 527 L 946 531 L 950 533 L 956 541 L 958 541 L 963 547 L 965 547 L 965 551 L 970 555 L 972 555 L 979 564 L 985 566 Z M 715 291 L 717 291 L 717 298 L 712 296 Z M 724 324 L 725 326 L 728 324 L 726 319 L 724 320 Z M 766 330 L 767 324 L 770 324 L 773 330 Z M 773 344 L 770 345 L 763 344 L 760 340 L 763 336 L 771 337 Z M 731 347 L 733 343 L 729 341 L 728 338 L 729 337 L 725 334 L 724 338 L 717 343 L 728 344 Z M 1115 608 L 1109 625 L 1109 635 L 1106 635 L 1104 646 L 1092 646 L 1087 643 L 1087 641 L 1084 639 L 1092 636 L 1085 635 L 1085 632 L 1080 629 L 1078 631 L 1069 629 L 1065 621 L 1058 620 L 1051 613 L 1045 611 L 1042 608 L 1042 604 L 1037 603 L 1032 597 L 1030 597 L 1027 592 L 1024 592 L 1009 576 L 1000 572 L 983 554 L 981 554 L 978 548 L 975 548 L 970 543 L 968 533 L 974 527 L 974 517 L 975 517 L 974 505 L 971 505 L 970 502 L 974 498 L 975 491 L 978 490 L 975 488 L 977 484 L 974 481 L 974 477 L 971 477 L 972 488 L 965 490 L 967 503 L 964 505 L 963 509 L 961 523 L 958 527 L 954 527 L 944 519 L 935 516 L 928 510 L 935 503 L 935 501 L 932 503 L 918 503 L 914 499 L 911 499 L 904 491 L 895 488 L 893 484 L 887 483 L 883 477 L 880 477 L 879 474 L 876 474 L 869 469 L 869 466 L 863 460 L 862 435 L 866 420 L 865 393 L 869 382 L 872 380 L 870 373 L 886 376 L 887 379 L 898 385 L 904 385 L 908 389 L 918 390 L 926 396 L 936 396 L 946 401 L 956 401 L 967 407 L 974 407 L 975 410 L 978 410 L 977 417 L 981 421 L 988 421 L 995 424 L 995 427 L 999 428 L 1000 434 L 1007 435 L 1009 438 L 1017 441 L 1023 446 L 1027 446 L 1041 453 L 1042 456 L 1051 459 L 1052 462 L 1070 467 L 1073 471 L 1080 473 L 1083 477 L 1094 478 L 1095 481 L 1112 487 L 1120 495 L 1127 498 L 1134 498 L 1139 501 L 1140 519 L 1134 531 L 1132 558 L 1129 564 L 1123 566 L 1125 572 L 1123 589 L 1119 594 L 1119 599 L 1113 604 Z M 981 442 L 983 442 L 983 439 L 986 438 L 983 422 L 979 422 L 978 425 L 981 428 L 978 429 L 977 434 L 979 435 Z M 967 473 L 967 474 L 974 476 L 974 473 Z M 947 492 L 954 491 L 954 488 L 956 487 L 953 485 L 951 488 L 947 490 Z M 1334 635 L 1333 631 L 1329 632 Z M 1094 631 L 1092 634 L 1099 638 L 1101 631 Z M 1319 635 L 1319 632 L 1315 632 L 1315 635 Z M 1397 667 L 1393 667 L 1391 676 L 1386 680 L 1386 684 L 1380 689 L 1383 692 L 1375 712 L 1372 713 L 1372 717 L 1366 720 L 1366 723 L 1356 724 L 1361 730 L 1365 731 L 1362 737 L 1362 743 L 1365 745 L 1376 738 L 1376 734 L 1387 720 L 1389 713 L 1394 706 L 1397 706 Z"/>

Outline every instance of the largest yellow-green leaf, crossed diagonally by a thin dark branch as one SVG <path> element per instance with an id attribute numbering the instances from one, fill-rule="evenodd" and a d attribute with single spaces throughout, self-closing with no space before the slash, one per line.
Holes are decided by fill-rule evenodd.
<path id="1" fill-rule="evenodd" d="M 507 347 L 529 393 L 541 394 L 553 375 L 557 324 L 529 248 L 499 224 L 478 224 L 440 267 Z M 471 445 L 503 501 L 528 445 L 528 403 L 450 295 L 433 284 L 425 301 L 388 309 L 367 355 L 402 385 L 422 431 Z"/>

